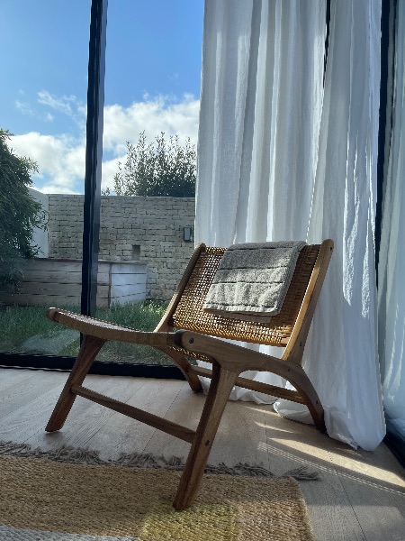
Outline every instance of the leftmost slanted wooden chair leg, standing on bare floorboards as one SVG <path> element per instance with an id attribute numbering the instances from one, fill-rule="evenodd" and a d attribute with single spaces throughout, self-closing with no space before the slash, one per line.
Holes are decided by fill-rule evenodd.
<path id="1" fill-rule="evenodd" d="M 76 399 L 76 394 L 71 392 L 72 385 L 81 385 L 85 381 L 85 376 L 90 370 L 97 353 L 103 347 L 103 344 L 105 344 L 105 340 L 101 340 L 100 338 L 88 335 L 83 337 L 76 362 L 45 428 L 47 432 L 60 430 L 64 425 L 67 415 Z"/>

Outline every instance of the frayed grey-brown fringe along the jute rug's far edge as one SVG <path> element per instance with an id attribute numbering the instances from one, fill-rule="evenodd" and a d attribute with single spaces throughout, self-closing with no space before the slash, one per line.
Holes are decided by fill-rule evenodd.
<path id="1" fill-rule="evenodd" d="M 92 451 L 91 449 L 76 449 L 75 447 L 69 446 L 62 446 L 60 449 L 53 451 L 43 451 L 39 447 L 32 449 L 30 445 L 26 444 L 0 442 L 0 454 L 23 456 L 28 458 L 47 458 L 56 462 L 72 464 L 109 465 L 143 469 L 160 468 L 176 472 L 180 472 L 184 469 L 183 459 L 176 456 L 166 458 L 164 456 L 156 456 L 148 453 L 133 453 L 121 454 L 117 460 L 112 461 L 101 459 L 98 451 Z M 230 467 L 225 463 L 220 463 L 218 465 L 207 464 L 205 473 L 243 475 L 247 477 L 293 477 L 293 479 L 296 479 L 297 481 L 317 481 L 320 479 L 319 472 L 311 471 L 306 466 L 290 470 L 289 472 L 285 472 L 283 475 L 277 476 L 275 473 L 270 472 L 263 466 L 259 465 L 237 463 L 233 467 Z"/>

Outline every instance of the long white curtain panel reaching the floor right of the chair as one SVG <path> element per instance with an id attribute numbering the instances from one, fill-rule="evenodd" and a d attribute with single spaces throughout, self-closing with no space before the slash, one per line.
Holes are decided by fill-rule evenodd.
<path id="1" fill-rule="evenodd" d="M 380 20 L 381 5 L 375 0 L 331 3 L 318 170 L 307 237 L 310 243 L 320 235 L 333 238 L 335 252 L 304 367 L 320 393 L 329 435 L 367 450 L 385 434 L 374 258 Z"/>

